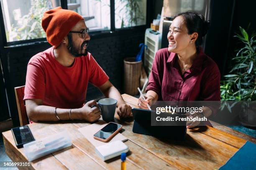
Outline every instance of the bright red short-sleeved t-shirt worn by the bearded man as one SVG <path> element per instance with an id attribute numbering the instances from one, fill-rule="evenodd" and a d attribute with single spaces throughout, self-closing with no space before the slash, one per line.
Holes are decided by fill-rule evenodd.
<path id="1" fill-rule="evenodd" d="M 58 108 L 80 108 L 84 104 L 88 82 L 99 87 L 109 79 L 88 52 L 75 57 L 71 67 L 61 65 L 54 48 L 34 55 L 28 62 L 26 99 L 41 99 L 43 105 Z"/>

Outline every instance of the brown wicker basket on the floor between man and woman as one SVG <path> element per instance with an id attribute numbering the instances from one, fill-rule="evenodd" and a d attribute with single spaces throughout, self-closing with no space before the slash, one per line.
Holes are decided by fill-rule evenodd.
<path id="1" fill-rule="evenodd" d="M 137 95 L 140 87 L 142 61 L 135 61 L 135 57 L 125 58 L 124 62 L 124 92 Z"/>

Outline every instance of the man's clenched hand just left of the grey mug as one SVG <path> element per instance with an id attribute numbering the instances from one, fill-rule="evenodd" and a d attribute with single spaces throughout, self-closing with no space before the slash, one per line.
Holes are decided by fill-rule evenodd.
<path id="1" fill-rule="evenodd" d="M 87 120 L 89 122 L 94 122 L 98 119 L 100 119 L 100 109 L 98 107 L 91 107 L 92 105 L 97 105 L 97 102 L 95 100 L 91 100 L 85 105 L 80 108 L 80 118 L 83 120 Z"/>

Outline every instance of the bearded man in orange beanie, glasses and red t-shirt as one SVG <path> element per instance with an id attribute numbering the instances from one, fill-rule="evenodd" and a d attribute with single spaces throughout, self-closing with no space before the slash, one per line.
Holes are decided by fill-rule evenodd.
<path id="1" fill-rule="evenodd" d="M 42 27 L 53 46 L 28 62 L 24 99 L 32 121 L 100 118 L 95 100 L 84 105 L 87 85 L 91 82 L 106 97 L 116 99 L 118 115 L 128 117 L 126 105 L 109 77 L 87 52 L 89 28 L 78 13 L 56 7 L 44 13 Z"/>

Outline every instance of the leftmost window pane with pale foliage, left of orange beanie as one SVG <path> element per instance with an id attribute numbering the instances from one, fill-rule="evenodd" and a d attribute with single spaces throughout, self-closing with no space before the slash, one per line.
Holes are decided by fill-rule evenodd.
<path id="1" fill-rule="evenodd" d="M 0 0 L 7 42 L 46 37 L 41 26 L 45 11 L 60 0 Z"/>

